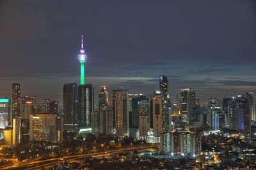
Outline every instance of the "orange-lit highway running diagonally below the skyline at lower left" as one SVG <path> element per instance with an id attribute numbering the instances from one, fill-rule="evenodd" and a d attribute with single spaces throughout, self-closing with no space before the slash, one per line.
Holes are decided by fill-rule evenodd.
<path id="1" fill-rule="evenodd" d="M 54 158 L 54 159 L 47 159 L 47 160 L 38 160 L 34 162 L 29 162 L 25 164 L 20 165 L 14 165 L 14 166 L 8 166 L 3 167 L 1 169 L 40 169 L 42 167 L 48 167 L 48 166 L 55 166 L 56 164 L 62 163 L 64 161 L 68 160 L 76 160 L 76 159 L 83 159 L 88 157 L 103 157 L 108 155 L 109 153 L 120 153 L 120 152 L 127 152 L 131 150 L 145 150 L 148 148 L 157 148 L 158 145 L 154 146 L 140 146 L 140 147 L 132 147 L 132 148 L 123 148 L 119 150 L 110 150 L 106 152 L 96 152 L 96 153 L 87 153 L 82 155 L 72 155 L 68 157 L 62 157 L 62 158 Z"/>

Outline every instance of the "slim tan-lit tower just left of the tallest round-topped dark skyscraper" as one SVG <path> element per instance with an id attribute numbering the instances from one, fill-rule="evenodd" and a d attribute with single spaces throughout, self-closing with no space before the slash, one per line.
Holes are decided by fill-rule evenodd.
<path id="1" fill-rule="evenodd" d="M 162 97 L 161 95 L 155 95 L 153 97 L 153 131 L 154 136 L 160 136 L 163 132 L 162 122 Z"/>

